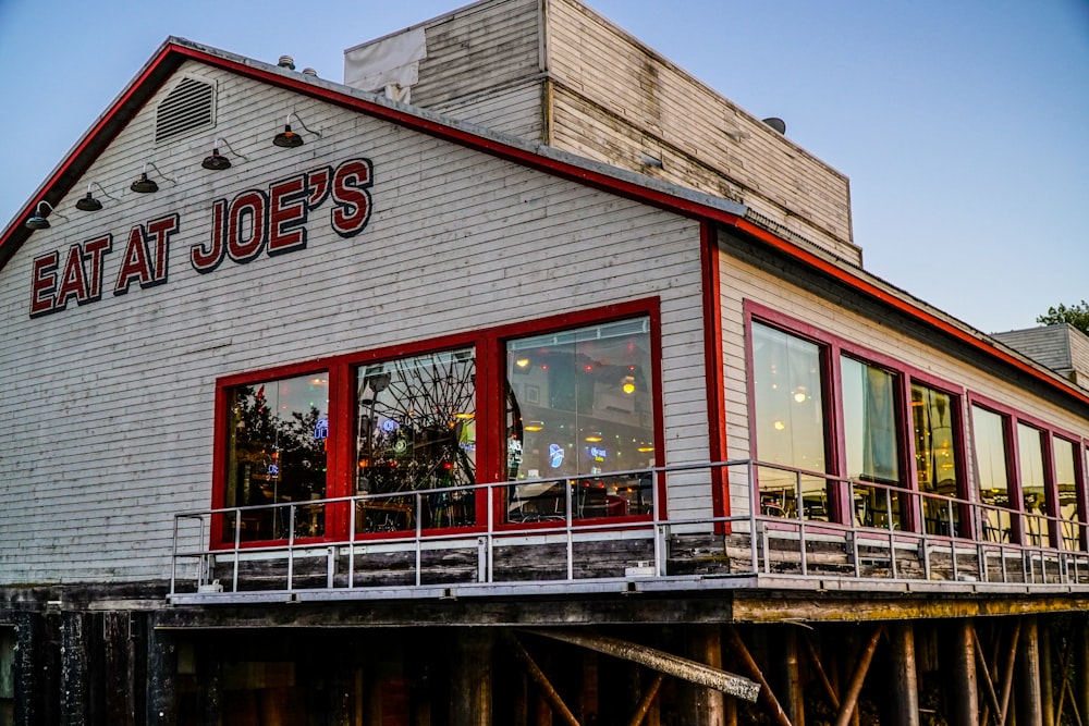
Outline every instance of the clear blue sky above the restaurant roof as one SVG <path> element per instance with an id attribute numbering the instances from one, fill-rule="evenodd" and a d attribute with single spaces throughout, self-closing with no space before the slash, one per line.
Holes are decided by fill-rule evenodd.
<path id="1" fill-rule="evenodd" d="M 343 78 L 458 0 L 0 0 L 0 223 L 169 35 Z M 589 0 L 851 177 L 872 273 L 995 332 L 1089 298 L 1089 0 Z"/>

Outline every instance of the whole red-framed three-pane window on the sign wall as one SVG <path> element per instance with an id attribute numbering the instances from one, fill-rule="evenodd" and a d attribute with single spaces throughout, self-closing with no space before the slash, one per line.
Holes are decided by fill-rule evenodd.
<path id="1" fill-rule="evenodd" d="M 648 299 L 220 379 L 213 539 L 647 516 L 657 321 Z"/>

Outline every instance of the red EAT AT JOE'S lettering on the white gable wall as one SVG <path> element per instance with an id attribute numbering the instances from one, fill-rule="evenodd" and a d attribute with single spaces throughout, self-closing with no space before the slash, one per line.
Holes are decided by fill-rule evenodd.
<path id="1" fill-rule="evenodd" d="M 264 189 L 247 189 L 233 200 L 212 204 L 211 237 L 189 247 L 189 263 L 200 273 L 212 272 L 224 259 L 244 263 L 262 253 L 271 256 L 303 249 L 309 213 L 332 199 L 329 222 L 341 237 L 354 237 L 370 220 L 372 164 L 350 159 L 335 169 L 321 167 L 295 174 Z M 129 232 L 115 278 L 113 295 L 124 295 L 133 283 L 142 288 L 166 284 L 170 241 L 182 226 L 171 213 L 135 225 Z M 113 235 L 103 234 L 72 245 L 66 254 L 53 250 L 34 259 L 30 317 L 60 312 L 69 302 L 96 303 L 102 297 L 107 257 Z"/>

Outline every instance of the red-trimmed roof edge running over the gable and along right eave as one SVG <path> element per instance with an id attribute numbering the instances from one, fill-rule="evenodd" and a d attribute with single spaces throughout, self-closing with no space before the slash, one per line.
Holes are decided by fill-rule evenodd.
<path id="1" fill-rule="evenodd" d="M 227 51 L 170 37 L 136 74 L 129 86 L 95 121 L 65 158 L 41 183 L 0 233 L 0 269 L 33 233 L 24 222 L 39 202 L 57 206 L 75 186 L 91 163 L 121 133 L 129 121 L 186 61 L 197 61 L 241 76 L 260 81 L 334 106 L 366 113 L 413 131 L 466 146 L 509 161 L 605 189 L 682 216 L 718 223 L 760 241 L 780 254 L 854 288 L 859 294 L 891 307 L 995 358 L 1053 390 L 1089 405 L 1089 394 L 1028 357 L 988 335 L 871 275 L 858 267 L 804 241 L 786 238 L 769 231 L 759 216 L 744 205 L 661 182 L 635 172 L 591 161 L 540 143 L 530 143 L 484 126 L 460 122 L 426 109 L 402 104 L 370 93 L 282 69 Z"/>

